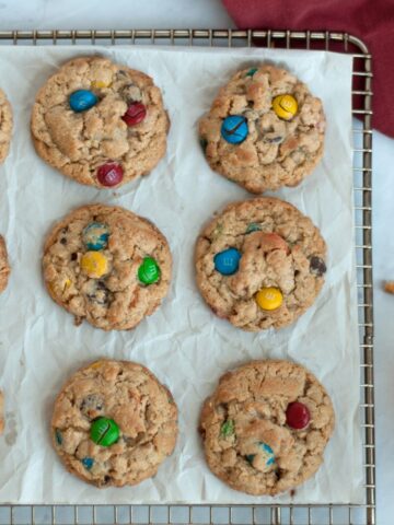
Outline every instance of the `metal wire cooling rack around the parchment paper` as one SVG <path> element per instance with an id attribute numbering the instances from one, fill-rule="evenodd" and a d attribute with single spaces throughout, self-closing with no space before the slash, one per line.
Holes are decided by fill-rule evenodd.
<path id="1" fill-rule="evenodd" d="M 354 57 L 352 115 L 356 257 L 360 335 L 363 504 L 1 505 L 0 525 L 253 524 L 374 525 L 375 445 L 372 289 L 372 72 L 366 44 L 347 33 L 239 30 L 1 31 L 1 44 L 200 45 L 325 49 Z M 1 52 L 1 51 L 0 51 Z"/>

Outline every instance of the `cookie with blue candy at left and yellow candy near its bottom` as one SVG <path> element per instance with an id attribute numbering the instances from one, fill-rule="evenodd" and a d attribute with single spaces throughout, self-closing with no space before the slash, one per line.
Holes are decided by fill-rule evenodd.
<path id="1" fill-rule="evenodd" d="M 234 202 L 197 238 L 197 284 L 212 311 L 234 326 L 281 328 L 313 304 L 325 256 L 318 229 L 289 202 Z"/>

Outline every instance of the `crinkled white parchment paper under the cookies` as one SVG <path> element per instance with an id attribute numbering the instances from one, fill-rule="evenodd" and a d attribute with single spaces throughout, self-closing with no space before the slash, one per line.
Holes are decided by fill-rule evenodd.
<path id="1" fill-rule="evenodd" d="M 35 94 L 61 62 L 103 54 L 141 69 L 163 90 L 172 126 L 165 159 L 149 177 L 117 191 L 84 187 L 45 164 L 30 137 Z M 217 318 L 195 280 L 194 243 L 211 214 L 251 197 L 215 174 L 197 121 L 237 69 L 270 60 L 289 68 L 323 98 L 327 116 L 323 162 L 298 188 L 278 191 L 320 226 L 328 245 L 325 287 L 292 327 L 247 334 Z M 317 51 L 171 49 L 152 47 L 0 47 L 0 85 L 14 110 L 11 153 L 0 167 L 0 232 L 12 276 L 0 298 L 0 387 L 7 431 L 0 439 L 0 502 L 12 503 L 263 503 L 235 492 L 207 468 L 196 431 L 202 400 L 219 376 L 251 359 L 291 359 L 326 386 L 337 424 L 317 475 L 276 502 L 362 501 L 358 427 L 359 349 L 354 260 L 350 147 L 351 58 Z M 45 292 L 43 241 L 55 221 L 89 202 L 121 205 L 148 217 L 169 238 L 174 258 L 170 294 L 135 330 L 106 334 L 72 317 Z M 179 408 L 176 450 L 154 479 L 138 487 L 96 489 L 69 475 L 50 444 L 54 398 L 80 365 L 107 357 L 149 366 Z"/>

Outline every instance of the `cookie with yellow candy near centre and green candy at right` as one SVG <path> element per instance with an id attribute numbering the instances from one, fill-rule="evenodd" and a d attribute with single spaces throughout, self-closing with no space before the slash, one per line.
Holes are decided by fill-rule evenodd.
<path id="1" fill-rule="evenodd" d="M 104 330 L 134 328 L 170 287 L 172 258 L 162 233 L 120 207 L 89 205 L 50 231 L 43 257 L 50 296 Z"/>

